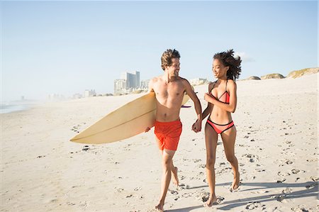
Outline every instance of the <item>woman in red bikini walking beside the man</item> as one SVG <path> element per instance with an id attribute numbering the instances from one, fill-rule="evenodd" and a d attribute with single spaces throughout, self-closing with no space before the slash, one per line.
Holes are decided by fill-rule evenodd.
<path id="1" fill-rule="evenodd" d="M 213 75 L 218 80 L 208 85 L 208 93 L 204 99 L 208 106 L 203 111 L 203 118 L 208 116 L 205 126 L 206 140 L 206 174 L 210 196 L 206 201 L 206 206 L 212 206 L 216 203 L 215 194 L 215 160 L 218 134 L 223 140 L 225 155 L 230 162 L 234 173 L 234 180 L 231 186 L 232 190 L 238 188 L 240 183 L 240 173 L 238 171 L 238 162 L 235 157 L 235 138 L 236 128 L 230 113 L 235 112 L 237 104 L 235 79 L 241 72 L 240 57 L 234 57 L 234 51 L 220 52 L 213 57 Z"/>

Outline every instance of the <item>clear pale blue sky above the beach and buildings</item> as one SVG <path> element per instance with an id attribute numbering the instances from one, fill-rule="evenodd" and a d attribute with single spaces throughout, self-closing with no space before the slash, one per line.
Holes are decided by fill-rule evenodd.
<path id="1" fill-rule="evenodd" d="M 318 67 L 317 1 L 1 1 L 2 101 L 113 93 L 121 72 L 213 80 L 213 54 L 233 48 L 242 75 Z"/>

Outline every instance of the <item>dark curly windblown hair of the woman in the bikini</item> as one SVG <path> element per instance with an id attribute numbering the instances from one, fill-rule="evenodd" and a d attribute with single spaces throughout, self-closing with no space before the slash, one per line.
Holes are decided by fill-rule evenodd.
<path id="1" fill-rule="evenodd" d="M 229 67 L 227 71 L 227 79 L 238 79 L 242 67 L 240 67 L 240 57 L 234 57 L 234 50 L 228 50 L 227 52 L 216 53 L 213 59 L 217 59 L 223 63 L 225 67 Z"/>

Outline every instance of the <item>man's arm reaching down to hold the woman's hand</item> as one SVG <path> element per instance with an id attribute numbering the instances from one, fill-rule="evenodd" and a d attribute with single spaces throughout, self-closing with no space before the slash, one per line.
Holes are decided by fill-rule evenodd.
<path id="1" fill-rule="evenodd" d="M 201 118 L 201 102 L 199 101 L 199 99 L 196 96 L 195 92 L 191 88 L 191 84 L 189 84 L 189 82 L 186 79 L 183 80 L 183 84 L 184 84 L 184 87 L 185 87 L 186 94 L 188 94 L 189 97 L 191 98 L 191 100 L 194 101 L 195 111 L 196 111 L 196 114 L 197 114 L 197 121 L 193 125 L 193 130 L 196 133 L 198 133 L 199 131 L 201 131 L 201 121 L 202 121 L 202 118 Z"/>

